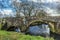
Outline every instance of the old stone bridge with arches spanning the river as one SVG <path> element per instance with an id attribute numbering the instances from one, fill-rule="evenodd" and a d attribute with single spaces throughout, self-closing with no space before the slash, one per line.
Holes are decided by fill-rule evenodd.
<path id="1" fill-rule="evenodd" d="M 25 24 L 23 23 L 23 18 L 7 18 L 6 21 L 8 25 L 19 25 L 22 31 L 26 31 L 30 25 L 35 24 L 41 24 L 46 23 L 49 25 L 49 28 L 52 32 L 59 33 L 60 34 L 60 18 L 58 17 L 44 17 L 44 18 L 38 18 L 38 17 L 26 17 Z"/>

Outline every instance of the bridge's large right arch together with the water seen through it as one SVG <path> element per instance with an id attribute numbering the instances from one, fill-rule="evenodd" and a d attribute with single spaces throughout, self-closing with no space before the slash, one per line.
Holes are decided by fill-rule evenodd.
<path id="1" fill-rule="evenodd" d="M 53 29 L 51 27 L 51 25 L 48 22 L 44 22 L 44 21 L 32 21 L 29 23 L 29 25 L 27 26 L 27 33 L 32 34 L 32 35 L 41 35 L 43 34 L 43 36 L 46 35 L 50 35 L 50 31 L 52 31 L 51 29 Z"/>

